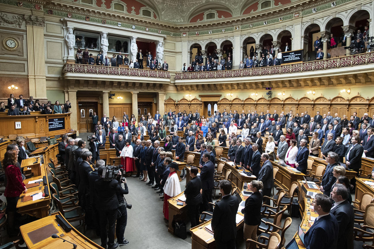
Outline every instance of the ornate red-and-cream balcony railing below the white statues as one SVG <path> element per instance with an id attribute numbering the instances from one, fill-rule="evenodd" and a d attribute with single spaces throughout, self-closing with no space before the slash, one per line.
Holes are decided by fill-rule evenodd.
<path id="1" fill-rule="evenodd" d="M 62 73 L 77 74 L 103 74 L 103 75 L 119 75 L 130 77 L 148 77 L 148 78 L 164 78 L 170 79 L 169 71 L 157 71 L 149 69 L 137 68 L 117 68 L 115 66 L 96 66 L 85 64 L 66 63 L 62 69 Z"/>

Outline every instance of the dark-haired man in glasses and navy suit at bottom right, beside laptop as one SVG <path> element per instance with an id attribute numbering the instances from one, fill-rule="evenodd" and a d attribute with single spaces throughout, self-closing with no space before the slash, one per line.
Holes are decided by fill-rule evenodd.
<path id="1" fill-rule="evenodd" d="M 339 226 L 335 216 L 330 214 L 332 206 L 330 198 L 324 194 L 316 194 L 312 205 L 319 216 L 304 235 L 305 247 L 337 248 Z"/>

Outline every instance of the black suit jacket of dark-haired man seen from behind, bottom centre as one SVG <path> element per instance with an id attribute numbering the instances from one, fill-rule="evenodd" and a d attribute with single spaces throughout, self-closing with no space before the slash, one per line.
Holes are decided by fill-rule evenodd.
<path id="1" fill-rule="evenodd" d="M 218 243 L 235 239 L 237 208 L 239 208 L 239 200 L 231 194 L 222 197 L 215 204 L 211 225 L 214 239 Z"/>

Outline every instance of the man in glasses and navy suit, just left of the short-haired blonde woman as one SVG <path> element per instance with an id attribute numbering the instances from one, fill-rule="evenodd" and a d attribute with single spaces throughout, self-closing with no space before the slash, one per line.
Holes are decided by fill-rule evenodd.
<path id="1" fill-rule="evenodd" d="M 321 186 L 319 187 L 319 190 L 321 190 L 324 194 L 329 196 L 331 192 L 331 187 L 336 182 L 333 169 L 335 166 L 339 165 L 339 155 L 335 152 L 330 151 L 329 153 L 327 153 L 326 161 L 328 165 L 326 166 L 325 174 L 322 177 Z"/>

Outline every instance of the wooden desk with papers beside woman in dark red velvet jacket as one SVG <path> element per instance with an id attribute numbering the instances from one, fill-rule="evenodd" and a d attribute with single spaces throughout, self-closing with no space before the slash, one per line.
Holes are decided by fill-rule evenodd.
<path id="1" fill-rule="evenodd" d="M 32 159 L 35 160 L 35 158 L 32 158 Z M 46 162 L 44 164 L 40 165 L 41 174 L 39 176 L 34 176 L 34 177 L 31 177 L 31 178 L 28 178 L 28 179 L 24 180 L 24 184 L 26 186 L 27 186 L 29 181 L 33 181 L 33 180 L 37 180 L 37 179 L 43 179 L 43 176 L 47 175 L 45 164 L 46 164 Z M 27 188 L 27 193 L 26 194 L 22 193 L 19 196 L 19 199 L 18 199 L 18 202 L 17 202 L 18 213 L 19 214 L 28 214 L 28 215 L 31 215 L 31 216 L 35 216 L 37 218 L 47 217 L 49 209 L 50 209 L 51 192 L 50 192 L 50 189 L 49 189 L 49 183 L 46 186 L 48 188 L 49 196 L 44 197 L 44 198 L 39 199 L 39 200 L 35 200 L 35 201 L 28 200 L 26 202 L 22 202 L 22 198 L 24 196 L 30 196 L 31 194 L 40 193 L 40 192 L 45 193 L 43 183 L 39 183 L 39 186 Z"/>

